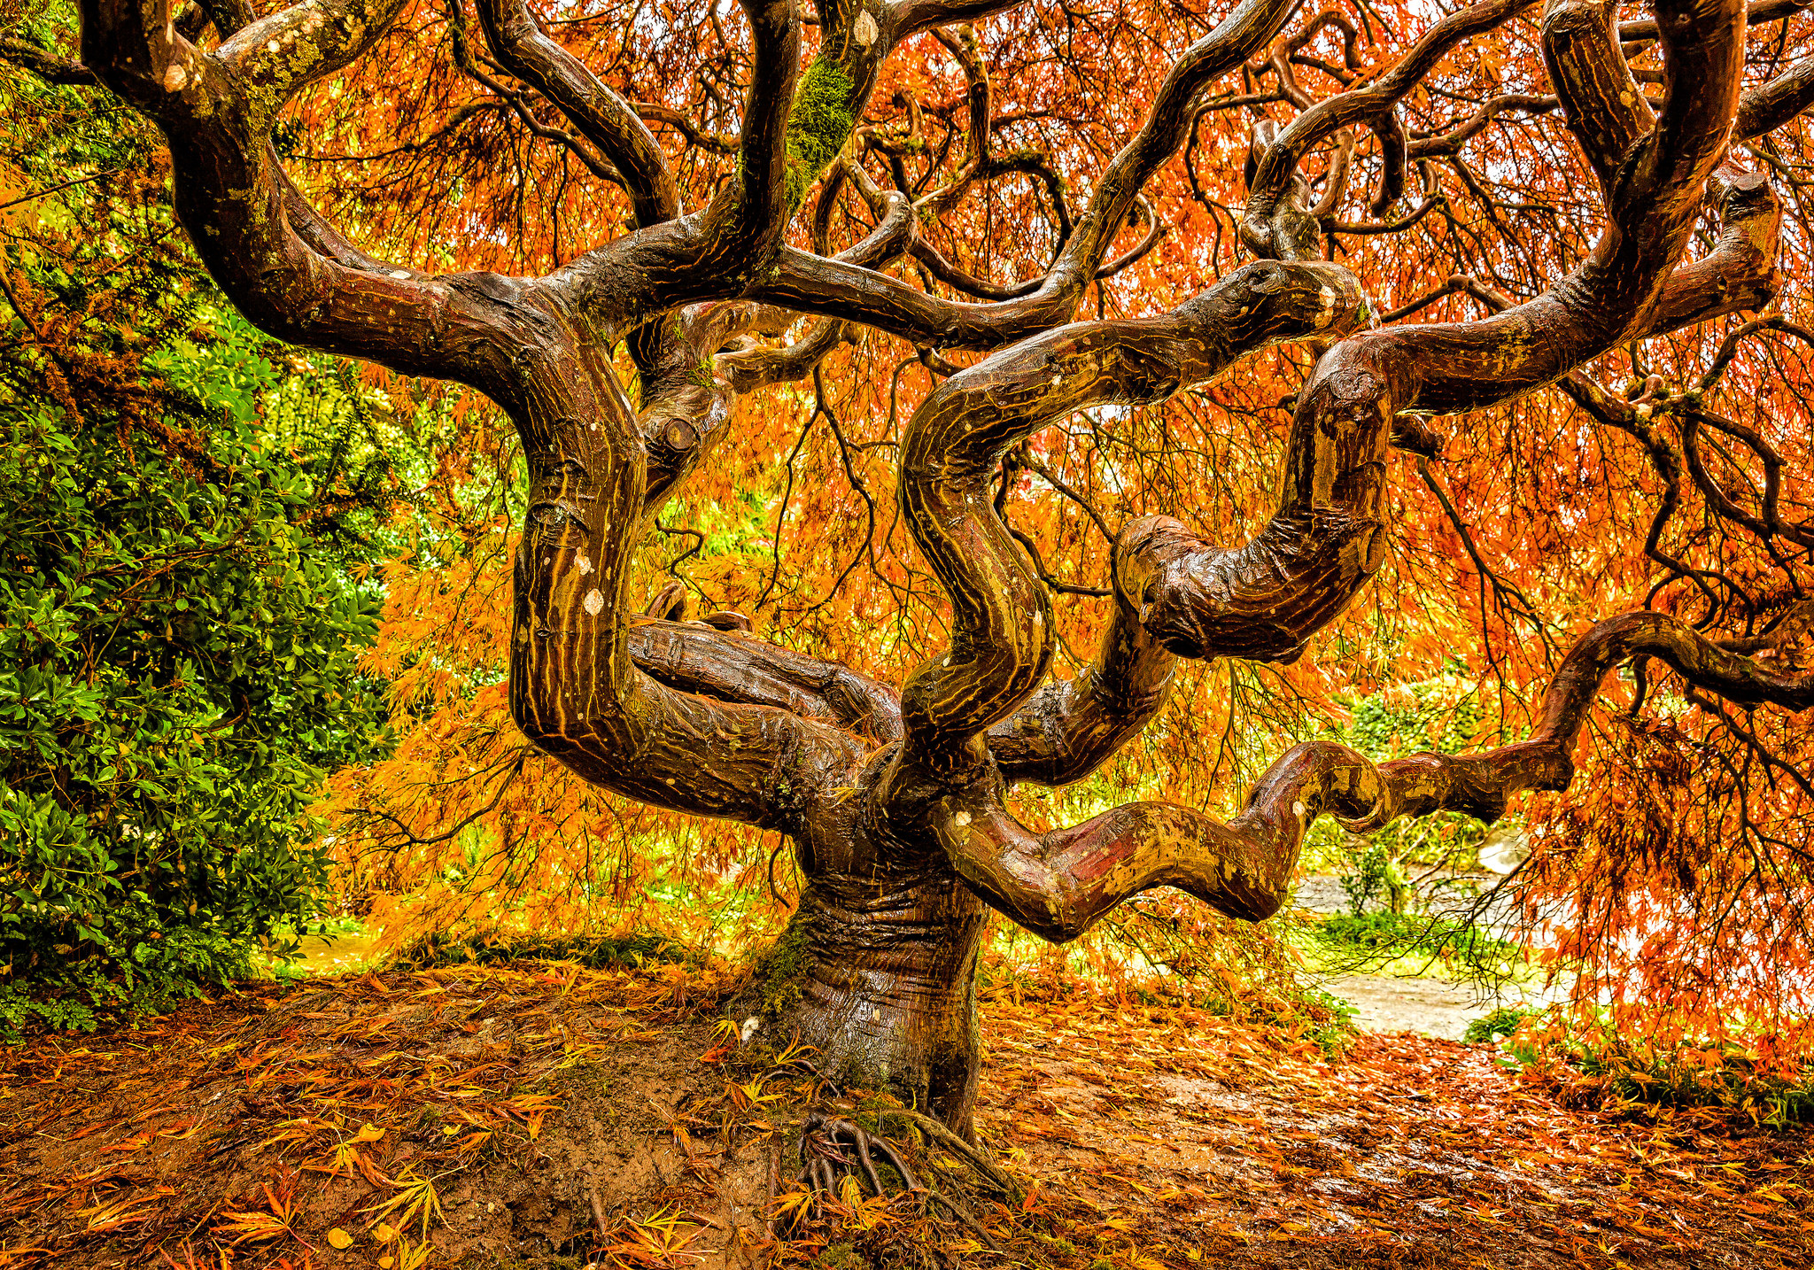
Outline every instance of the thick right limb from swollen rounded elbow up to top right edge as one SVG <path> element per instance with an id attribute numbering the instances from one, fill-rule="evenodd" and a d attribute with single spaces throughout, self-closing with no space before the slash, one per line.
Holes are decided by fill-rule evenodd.
<path id="1" fill-rule="evenodd" d="M 1663 13 L 1667 105 L 1625 161 L 1587 261 L 1484 321 L 1386 327 L 1324 354 L 1297 399 L 1279 512 L 1239 550 L 1204 544 L 1159 570 L 1143 593 L 1154 635 L 1192 657 L 1290 660 L 1384 559 L 1384 459 L 1402 414 L 1509 401 L 1647 328 L 1723 154 L 1743 33 L 1732 0 Z"/>

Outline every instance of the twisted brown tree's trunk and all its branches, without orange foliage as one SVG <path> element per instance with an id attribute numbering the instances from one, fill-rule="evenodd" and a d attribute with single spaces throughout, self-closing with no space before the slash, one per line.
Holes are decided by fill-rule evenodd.
<path id="1" fill-rule="evenodd" d="M 827 1072 L 885 1081 L 960 1128 L 976 1092 L 972 976 L 989 911 L 1068 940 L 1130 896 L 1172 885 L 1221 913 L 1266 918 L 1306 827 L 1324 813 L 1355 829 L 1440 809 L 1491 820 L 1520 791 L 1565 789 L 1600 686 L 1631 659 L 1660 662 L 1689 698 L 1716 711 L 1718 702 L 1789 711 L 1814 704 L 1814 677 L 1783 651 L 1792 651 L 1805 611 L 1798 570 L 1809 530 L 1785 510 L 1799 508 L 1803 486 L 1785 503 L 1785 483 L 1799 477 L 1785 475 L 1790 464 L 1770 441 L 1702 410 L 1702 394 L 1741 343 L 1760 332 L 1805 337 L 1801 328 L 1774 316 L 1734 328 L 1702 386 L 1687 390 L 1669 388 L 1669 376 L 1638 377 L 1620 397 L 1578 372 L 1627 348 L 1640 368 L 1640 341 L 1770 299 L 1781 209 L 1761 169 L 1796 171 L 1801 158 L 1783 158 L 1770 134 L 1794 127 L 1814 100 L 1814 64 L 1778 65 L 1789 33 L 1781 24 L 1794 22 L 1799 5 L 1765 2 L 1747 13 L 1738 0 L 1660 0 L 1654 22 L 1616 24 L 1611 4 L 1565 0 L 1549 5 L 1533 33 L 1524 0 L 1482 0 L 1437 22 L 1393 9 L 1391 27 L 1362 4 L 1355 18 L 1331 9 L 1295 29 L 1293 0 L 1246 0 L 1183 51 L 1172 36 L 1206 24 L 1190 9 L 1161 7 L 1175 22 L 1148 45 L 1148 56 L 1165 51 L 1163 74 L 1116 67 L 1157 85 L 1137 100 L 1137 125 L 1112 156 L 992 147 L 998 125 L 1041 112 L 1054 74 L 1076 65 L 1065 56 L 1088 16 L 1063 7 L 1065 29 L 1034 24 L 1032 36 L 1016 33 L 1052 56 L 1023 49 L 1025 82 L 1012 89 L 1021 96 L 1003 111 L 978 36 L 954 24 L 1010 9 L 1003 0 L 825 4 L 805 69 L 804 20 L 785 0 L 749 0 L 747 31 L 726 33 L 717 7 L 691 15 L 715 27 L 718 42 L 698 44 L 717 47 L 722 64 L 675 38 L 686 11 L 660 9 L 653 18 L 620 16 L 617 67 L 597 73 L 522 0 L 477 2 L 483 42 L 452 5 L 448 60 L 488 96 L 448 109 L 444 127 L 424 140 L 401 142 L 406 161 L 434 161 L 437 143 L 490 112 L 559 149 L 561 198 L 571 160 L 619 187 L 628 205 L 633 232 L 575 252 L 562 250 L 561 198 L 551 196 L 548 250 L 559 259 L 537 276 L 430 272 L 366 254 L 279 161 L 279 145 L 294 147 L 299 120 L 310 118 L 285 116 L 285 107 L 312 83 L 354 83 L 341 76 L 356 74 L 359 58 L 385 40 L 401 0 L 305 0 L 256 22 L 229 4 L 152 15 L 83 0 L 83 67 L 47 65 L 53 74 L 91 73 L 156 120 L 171 145 L 178 214 L 250 321 L 397 374 L 468 385 L 510 415 L 530 468 L 510 666 L 524 737 L 626 798 L 791 838 L 807 882 L 751 992 L 733 1003 L 736 1018 L 749 1020 L 746 1040 L 798 1034 L 818 1047 Z M 668 36 L 648 45 L 660 56 L 644 47 L 646 31 L 635 29 L 642 20 Z M 1763 29 L 1751 45 L 1747 22 Z M 203 34 L 209 25 L 216 42 Z M 1393 27 L 1417 34 L 1364 65 L 1362 42 L 1388 40 Z M 927 33 L 967 82 L 940 114 L 945 142 L 936 151 L 923 85 L 911 74 L 896 82 L 894 122 L 863 122 L 889 111 L 876 85 L 891 73 L 891 54 L 907 44 L 929 47 L 916 40 Z M 599 36 L 575 34 L 577 44 L 584 38 Z M 1507 73 L 1518 40 L 1540 49 L 1551 91 L 1482 94 L 1482 82 Z M 1464 45 L 1475 54 L 1471 89 L 1457 94 L 1439 67 Z M 397 67 L 419 67 L 430 45 L 385 47 L 381 73 L 395 80 Z M 15 54 L 49 60 L 40 49 Z M 698 116 L 635 103 L 608 83 L 673 80 L 675 62 L 682 74 L 698 73 L 711 102 Z M 1041 69 L 1054 64 L 1059 73 Z M 1765 71 L 1772 74 L 1760 78 Z M 1239 93 L 1224 83 L 1235 73 Z M 1522 74 L 1533 73 L 1526 64 Z M 424 91 L 444 83 L 426 71 L 417 82 Z M 1660 100 L 1647 85 L 1662 87 Z M 334 103 L 312 105 L 314 118 L 337 120 L 332 136 L 345 142 L 343 156 L 366 154 L 346 114 L 366 96 L 330 96 Z M 1460 102 L 1468 114 L 1439 125 L 1440 102 Z M 437 105 L 448 105 L 444 96 Z M 1469 232 L 1468 218 L 1449 209 L 1442 163 L 1478 194 L 1487 220 L 1498 218 L 1506 200 L 1482 190 L 1480 172 L 1458 152 L 1497 120 L 1558 109 L 1598 183 L 1598 238 L 1571 245 L 1565 232 L 1555 234 L 1551 249 L 1567 272 L 1540 285 L 1544 259 L 1531 252 L 1531 236 L 1506 230 L 1478 256 L 1535 278 L 1527 299 L 1455 278 L 1379 325 L 1370 287 L 1324 250 L 1341 256 L 1355 238 L 1409 234 L 1435 220 Z M 1241 111 L 1250 112 L 1244 123 Z M 678 140 L 660 143 L 649 122 Z M 1161 171 L 1175 172 L 1181 151 L 1199 205 L 1223 207 L 1197 183 L 1203 127 L 1223 129 L 1224 158 L 1246 156 L 1244 176 L 1230 174 L 1226 185 L 1244 183 L 1244 205 L 1230 221 L 1252 259 L 1223 270 L 1217 216 L 1214 247 L 1199 223 L 1170 258 L 1186 276 L 1214 278 L 1199 294 L 1141 316 L 1076 323 L 1088 296 L 1101 308 L 1110 279 L 1154 252 L 1165 225 L 1143 192 Z M 493 161 L 508 152 L 497 138 Z M 1306 176 L 1313 154 L 1321 172 Z M 1544 158 L 1549 169 L 1562 163 L 1511 147 L 1500 156 L 1507 171 L 1487 181 L 1529 181 Z M 876 181 L 878 171 L 894 189 Z M 1391 218 L 1413 171 L 1422 194 Z M 1076 212 L 1074 183 L 1088 187 Z M 441 189 L 454 203 L 473 189 L 504 198 L 497 227 L 510 225 L 512 212 L 524 223 L 533 185 L 530 172 L 492 183 L 468 172 Z M 1023 192 L 987 203 L 998 185 Z M 972 196 L 1018 210 L 1023 223 L 1045 212 L 1052 258 L 1036 278 L 990 283 L 952 259 L 949 241 L 940 245 L 940 220 L 956 220 Z M 571 214 L 564 225 L 571 238 Z M 867 232 L 833 250 L 838 225 Z M 1145 232 L 1116 254 L 1130 227 Z M 501 234 L 479 238 L 486 241 L 468 256 L 495 256 Z M 444 243 L 430 247 L 446 258 Z M 889 272 L 898 261 L 911 261 L 912 279 Z M 1397 321 L 1462 296 L 1489 316 Z M 813 321 L 785 341 L 802 318 Z M 677 615 L 671 597 L 644 615 L 631 595 L 635 557 L 657 512 L 707 454 L 735 448 L 726 441 L 736 397 L 813 376 L 816 419 L 827 410 L 824 366 L 853 328 L 912 343 L 936 379 L 891 466 L 900 517 L 949 613 L 949 639 L 900 689 L 838 660 L 751 639 L 738 613 L 666 620 Z M 1114 546 L 1107 586 L 1096 588 L 1110 593 L 1099 651 L 1076 677 L 1052 677 L 1052 590 L 1078 588 L 1058 582 L 1036 544 L 1023 544 L 1003 519 L 1012 477 L 1041 470 L 1029 437 L 1074 412 L 1161 403 L 1235 365 L 1264 365 L 1255 354 L 1290 343 L 1317 359 L 1293 394 L 1270 519 L 1234 550 L 1172 515 L 1103 526 Z M 952 350 L 987 356 L 958 366 Z M 1580 633 L 1553 668 L 1529 733 L 1480 753 L 1375 766 L 1346 746 L 1310 740 L 1279 758 L 1228 822 L 1168 802 L 1130 802 L 1047 833 L 1014 815 L 1012 786 L 1076 782 L 1141 735 L 1181 659 L 1299 659 L 1388 561 L 1393 452 L 1433 459 L 1444 437 L 1431 417 L 1486 412 L 1549 385 L 1654 457 L 1665 488 L 1649 553 L 1662 550 L 1685 459 L 1718 532 L 1740 526 L 1758 541 L 1765 564 L 1745 566 L 1754 577 L 1721 577 L 1665 552 L 1671 572 L 1647 597 L 1653 604 L 1624 597 L 1618 608 L 1627 611 Z M 853 452 L 836 414 L 829 417 L 856 488 Z M 1680 441 L 1660 434 L 1662 417 L 1682 421 Z M 1709 430 L 1721 435 L 1725 475 L 1705 472 Z M 1727 472 L 1745 466 L 1731 444 L 1749 446 L 1769 472 L 1756 497 Z M 1428 463 L 1419 472 L 1444 499 Z M 1484 562 L 1466 523 L 1451 521 L 1482 597 L 1491 582 L 1509 630 L 1506 613 L 1529 610 L 1529 601 Z M 1767 570 L 1776 575 L 1760 599 L 1756 579 Z M 1678 582 L 1687 586 L 1654 602 Z M 1720 624 L 1738 630 L 1720 635 Z M 1805 733 L 1778 738 L 1778 747 L 1790 746 L 1785 760 L 1741 720 L 1729 724 L 1769 755 L 1760 764 L 1799 780 L 1772 791 L 1772 815 L 1801 815 L 1796 800 L 1807 782 L 1796 755 L 1805 749 L 1792 747 Z"/>

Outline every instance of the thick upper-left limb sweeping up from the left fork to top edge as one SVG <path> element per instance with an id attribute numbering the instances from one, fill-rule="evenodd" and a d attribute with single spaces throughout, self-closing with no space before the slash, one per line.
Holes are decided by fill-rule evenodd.
<path id="1" fill-rule="evenodd" d="M 510 401 L 510 350 L 551 327 L 537 288 L 372 259 L 301 200 L 267 140 L 297 91 L 354 62 L 399 9 L 401 0 L 305 0 L 203 53 L 171 25 L 147 27 L 138 5 L 83 0 L 82 53 L 163 131 L 176 214 L 256 327 Z"/>

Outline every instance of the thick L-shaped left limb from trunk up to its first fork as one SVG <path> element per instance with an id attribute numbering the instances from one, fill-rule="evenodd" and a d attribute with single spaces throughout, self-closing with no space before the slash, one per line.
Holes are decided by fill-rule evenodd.
<path id="1" fill-rule="evenodd" d="M 758 693 L 722 700 L 637 666 L 628 588 L 648 526 L 644 444 L 593 356 L 550 350 L 517 414 L 530 512 L 515 568 L 512 713 L 537 749 L 591 784 L 796 831 L 795 791 L 824 787 L 865 746 Z"/>

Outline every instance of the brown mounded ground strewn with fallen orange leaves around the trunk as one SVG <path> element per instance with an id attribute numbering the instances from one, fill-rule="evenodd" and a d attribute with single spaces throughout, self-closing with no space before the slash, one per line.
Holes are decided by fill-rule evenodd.
<path id="1" fill-rule="evenodd" d="M 1019 989 L 985 1007 L 1003 1194 L 678 965 L 259 985 L 5 1052 L 0 1266 L 1805 1266 L 1814 1143 L 1633 1116 L 1495 1050 Z M 814 1109 L 887 1130 L 809 1219 Z M 845 1152 L 849 1154 L 849 1152 Z M 925 1194 L 938 1190 L 945 1203 Z"/>

